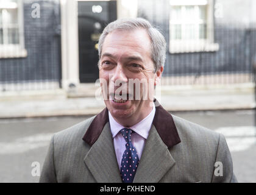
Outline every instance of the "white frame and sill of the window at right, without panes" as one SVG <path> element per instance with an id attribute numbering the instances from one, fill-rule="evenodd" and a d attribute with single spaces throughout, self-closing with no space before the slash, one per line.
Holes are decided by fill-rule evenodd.
<path id="1" fill-rule="evenodd" d="M 200 4 L 200 2 L 207 2 L 207 4 Z M 213 23 L 213 0 L 170 0 L 170 12 L 169 12 L 169 52 L 171 54 L 176 53 L 188 53 L 188 52 L 214 52 L 219 50 L 219 44 L 214 43 L 214 23 Z M 197 40 L 185 40 L 185 39 L 172 39 L 171 35 L 171 6 L 185 7 L 188 5 L 205 5 L 206 6 L 206 39 Z M 181 25 L 184 23 L 180 23 Z M 196 23 L 194 23 L 196 24 Z M 199 24 L 198 24 L 199 25 Z M 198 31 L 199 32 L 199 31 Z M 182 36 L 182 35 L 181 35 Z"/>

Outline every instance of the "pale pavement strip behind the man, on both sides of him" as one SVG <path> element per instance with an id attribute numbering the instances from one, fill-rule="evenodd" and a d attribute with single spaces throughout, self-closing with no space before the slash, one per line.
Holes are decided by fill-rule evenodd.
<path id="1" fill-rule="evenodd" d="M 157 100 L 169 112 L 255 108 L 254 84 L 162 85 Z M 95 115 L 104 107 L 94 84 L 76 90 L 12 91 L 0 93 L 0 118 Z"/>

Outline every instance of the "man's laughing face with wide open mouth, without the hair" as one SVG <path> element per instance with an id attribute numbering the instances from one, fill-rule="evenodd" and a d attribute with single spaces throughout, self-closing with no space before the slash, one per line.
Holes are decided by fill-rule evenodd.
<path id="1" fill-rule="evenodd" d="M 146 117 L 152 110 L 150 106 L 152 98 L 143 98 L 142 84 L 139 90 L 134 84 L 133 93 L 131 93 L 128 90 L 129 80 L 146 80 L 148 82 L 147 90 L 149 93 L 154 93 L 154 85 L 162 71 L 163 68 L 154 73 L 154 63 L 151 60 L 151 40 L 146 30 L 114 30 L 108 34 L 105 37 L 99 60 L 99 78 L 107 81 L 107 99 L 104 101 L 112 116 L 115 119 L 133 118 L 133 121 L 134 119 L 140 121 Z M 115 82 L 122 84 L 118 84 L 118 86 L 111 84 Z M 127 98 L 123 98 L 120 101 L 120 94 L 122 97 L 128 98 L 129 96 L 129 99 L 124 100 Z M 131 96 L 133 96 L 133 100 L 130 100 Z"/>

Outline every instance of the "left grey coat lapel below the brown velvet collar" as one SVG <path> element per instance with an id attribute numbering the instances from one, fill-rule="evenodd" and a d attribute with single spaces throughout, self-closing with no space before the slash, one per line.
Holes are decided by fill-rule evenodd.
<path id="1" fill-rule="evenodd" d="M 97 182 L 122 182 L 108 122 L 85 156 L 84 163 Z"/>

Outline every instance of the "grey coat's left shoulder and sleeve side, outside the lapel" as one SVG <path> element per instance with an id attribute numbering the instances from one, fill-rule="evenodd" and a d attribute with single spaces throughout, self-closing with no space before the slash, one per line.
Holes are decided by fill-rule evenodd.
<path id="1" fill-rule="evenodd" d="M 88 176 L 84 169 L 84 157 L 90 146 L 82 138 L 95 116 L 79 122 L 68 129 L 53 135 L 44 167 L 41 182 L 80 182 L 80 174 Z"/>

